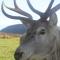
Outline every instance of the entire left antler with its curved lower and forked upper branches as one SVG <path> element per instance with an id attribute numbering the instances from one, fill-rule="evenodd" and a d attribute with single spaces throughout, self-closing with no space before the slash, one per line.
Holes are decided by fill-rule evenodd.
<path id="1" fill-rule="evenodd" d="M 21 15 L 26 16 L 27 18 L 26 18 L 26 17 L 21 17 L 21 16 L 12 16 L 12 15 L 7 14 L 7 13 L 4 11 L 3 5 L 4 5 L 6 8 L 8 8 L 9 10 L 15 11 L 15 12 L 21 14 Z M 33 19 L 32 19 L 32 16 L 31 16 L 30 14 L 24 12 L 23 10 L 21 10 L 21 9 L 17 6 L 16 0 L 14 0 L 14 6 L 15 6 L 15 8 L 10 8 L 10 7 L 7 7 L 7 6 L 4 4 L 4 2 L 2 2 L 1 9 L 2 9 L 2 12 L 4 13 L 4 15 L 7 16 L 8 18 L 11 18 L 11 19 L 19 19 L 19 20 L 21 20 L 24 24 L 27 24 L 27 23 L 32 24 L 32 23 L 34 22 Z"/>

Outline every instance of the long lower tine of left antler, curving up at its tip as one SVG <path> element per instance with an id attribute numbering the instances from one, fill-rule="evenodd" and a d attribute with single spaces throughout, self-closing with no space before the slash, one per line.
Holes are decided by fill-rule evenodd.
<path id="1" fill-rule="evenodd" d="M 7 16 L 8 18 L 18 19 L 18 20 L 21 19 L 21 21 L 22 21 L 23 23 L 24 23 L 25 21 L 27 21 L 28 23 L 32 23 L 33 20 L 30 20 L 29 18 L 20 17 L 20 16 L 11 16 L 11 15 L 7 14 L 7 13 L 4 11 L 4 9 L 3 9 L 3 4 L 4 4 L 4 2 L 3 2 L 2 5 L 1 5 L 1 10 L 2 10 L 2 12 L 4 13 L 4 15 Z"/>

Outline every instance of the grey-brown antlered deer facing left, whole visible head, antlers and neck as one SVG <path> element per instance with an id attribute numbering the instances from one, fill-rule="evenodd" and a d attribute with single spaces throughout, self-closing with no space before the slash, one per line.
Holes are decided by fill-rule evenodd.
<path id="1" fill-rule="evenodd" d="M 1 5 L 1 10 L 6 17 L 20 20 L 27 27 L 27 31 L 20 37 L 21 44 L 14 53 L 15 60 L 60 60 L 60 31 L 56 14 L 56 11 L 60 9 L 60 3 L 51 8 L 54 2 L 51 0 L 43 13 L 35 9 L 29 0 L 26 2 L 29 8 L 40 16 L 38 20 L 34 20 L 29 13 L 20 9 L 16 0 L 14 0 L 14 8 L 6 6 L 4 2 Z M 8 14 L 3 5 L 24 17 Z"/>

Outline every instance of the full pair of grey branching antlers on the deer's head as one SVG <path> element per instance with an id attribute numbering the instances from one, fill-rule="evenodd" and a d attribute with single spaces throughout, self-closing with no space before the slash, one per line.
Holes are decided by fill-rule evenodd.
<path id="1" fill-rule="evenodd" d="M 33 12 L 35 12 L 36 14 L 38 14 L 38 15 L 39 15 L 41 18 L 43 18 L 44 20 L 45 20 L 46 18 L 48 18 L 50 15 L 52 15 L 53 13 L 55 13 L 58 9 L 60 9 L 60 4 L 58 4 L 57 6 L 55 6 L 55 7 L 53 7 L 53 8 L 51 9 L 53 2 L 54 2 L 54 0 L 51 0 L 51 2 L 50 2 L 50 4 L 49 4 L 46 12 L 45 12 L 45 13 L 42 13 L 42 12 L 34 9 L 33 6 L 31 5 L 30 1 L 27 0 L 27 3 L 28 3 L 28 5 L 29 5 L 30 9 L 31 9 Z M 22 21 L 23 23 L 24 23 L 24 22 L 28 22 L 28 23 L 34 22 L 33 19 L 32 19 L 32 16 L 31 16 L 30 14 L 28 14 L 27 12 L 24 12 L 23 10 L 21 10 L 21 9 L 17 6 L 16 0 L 14 0 L 14 6 L 15 6 L 15 8 L 7 7 L 5 4 L 4 4 L 4 6 L 5 6 L 6 8 L 8 8 L 9 10 L 12 10 L 12 11 L 14 11 L 14 12 L 17 12 L 17 13 L 23 15 L 23 16 L 26 16 L 27 18 L 26 18 L 26 17 L 20 17 L 20 16 L 11 16 L 11 15 L 7 14 L 7 13 L 4 11 L 4 9 L 3 9 L 3 4 L 4 4 L 4 3 L 2 3 L 2 6 L 1 6 L 2 12 L 3 12 L 4 15 L 7 16 L 8 18 L 21 19 L 21 21 Z M 43 20 L 43 19 L 39 19 L 39 20 Z"/>

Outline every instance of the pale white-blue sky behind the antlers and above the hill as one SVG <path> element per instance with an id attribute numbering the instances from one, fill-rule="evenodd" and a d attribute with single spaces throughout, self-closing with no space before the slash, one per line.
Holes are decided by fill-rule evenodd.
<path id="1" fill-rule="evenodd" d="M 15 20 L 15 19 L 7 18 L 2 13 L 2 11 L 1 11 L 2 1 L 4 1 L 5 5 L 7 5 L 8 7 L 14 8 L 13 0 L 0 0 L 0 30 L 3 29 L 3 28 L 5 28 L 5 27 L 7 27 L 7 26 L 10 26 L 10 25 L 21 24 L 21 21 L 20 20 Z M 33 7 L 35 9 L 41 11 L 41 12 L 45 12 L 45 10 L 47 9 L 50 1 L 51 0 L 30 0 L 30 2 L 33 5 Z M 24 10 L 24 11 L 28 12 L 29 14 L 31 14 L 32 17 L 33 17 L 33 19 L 35 19 L 35 20 L 38 20 L 39 19 L 39 16 L 37 14 L 33 13 L 29 9 L 29 6 L 27 5 L 26 0 L 16 0 L 16 2 L 17 2 L 17 5 L 19 6 L 19 8 L 21 8 L 22 10 Z M 60 3 L 60 0 L 55 0 L 52 7 L 54 7 L 58 3 Z M 4 7 L 4 10 L 8 14 L 10 14 L 10 15 L 13 15 L 13 16 L 21 16 L 18 13 L 13 12 L 13 11 L 10 11 L 10 10 L 8 10 L 5 7 Z M 58 17 L 58 24 L 57 25 L 60 26 L 60 10 L 58 10 L 56 12 L 56 14 L 57 14 L 57 17 Z"/>

